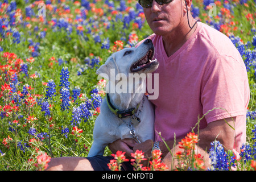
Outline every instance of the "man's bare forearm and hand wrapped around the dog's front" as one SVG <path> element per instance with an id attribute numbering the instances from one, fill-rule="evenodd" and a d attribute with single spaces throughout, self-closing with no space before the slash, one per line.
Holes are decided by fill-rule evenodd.
<path id="1" fill-rule="evenodd" d="M 236 117 L 221 119 L 218 121 L 210 122 L 205 129 L 200 130 L 199 132 L 199 147 L 201 151 L 209 151 L 210 143 L 215 139 L 220 141 L 224 146 L 225 150 L 232 150 L 234 145 L 234 123 L 236 122 Z M 185 136 L 184 136 L 185 137 Z M 183 138 L 184 138 L 183 137 Z M 175 150 L 172 150 L 172 153 L 175 154 L 179 147 L 177 147 L 182 138 L 177 138 L 174 140 L 166 141 L 168 147 L 172 150 L 174 146 Z M 174 143 L 176 144 L 174 145 Z M 152 140 L 146 140 L 145 142 L 138 144 L 133 139 L 119 139 L 115 142 L 109 144 L 110 150 L 115 153 L 118 150 L 125 151 L 126 155 L 131 158 L 131 152 L 135 152 L 136 150 L 142 150 L 145 156 L 151 156 L 151 150 L 153 146 Z M 170 153 L 166 147 L 164 142 L 159 143 L 159 147 L 162 151 L 162 158 L 164 158 L 168 153 Z M 203 155 L 203 154 L 202 154 Z M 169 155 L 168 155 L 169 156 Z"/>

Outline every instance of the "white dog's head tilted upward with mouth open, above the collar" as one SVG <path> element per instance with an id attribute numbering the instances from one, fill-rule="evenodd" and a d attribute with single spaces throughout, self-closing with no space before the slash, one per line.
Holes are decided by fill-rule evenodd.
<path id="1" fill-rule="evenodd" d="M 113 53 L 105 64 L 97 69 L 97 75 L 106 74 L 110 78 L 111 69 L 115 70 L 115 75 L 118 73 L 152 73 L 159 65 L 157 60 L 152 60 L 154 57 L 154 45 L 150 39 L 145 40 L 137 48 L 124 48 L 121 51 Z"/>

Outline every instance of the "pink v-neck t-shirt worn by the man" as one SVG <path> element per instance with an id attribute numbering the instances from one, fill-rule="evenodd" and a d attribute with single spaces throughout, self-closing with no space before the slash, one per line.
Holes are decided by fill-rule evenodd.
<path id="1" fill-rule="evenodd" d="M 148 38 L 160 63 L 154 72 L 159 74 L 159 97 L 151 100 L 155 105 L 155 130 L 165 140 L 185 137 L 199 117 L 221 107 L 225 110 L 214 109 L 200 121 L 200 129 L 218 119 L 237 116 L 234 150 L 239 152 L 246 141 L 250 90 L 245 64 L 230 39 L 198 22 L 193 35 L 168 57 L 162 36 L 152 34 Z M 155 139 L 161 140 L 157 133 Z"/>

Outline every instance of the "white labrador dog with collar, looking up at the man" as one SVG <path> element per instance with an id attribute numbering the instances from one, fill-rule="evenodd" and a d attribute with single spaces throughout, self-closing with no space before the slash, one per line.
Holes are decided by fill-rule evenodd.
<path id="1" fill-rule="evenodd" d="M 158 68 L 159 62 L 152 61 L 153 56 L 154 46 L 147 39 L 137 48 L 113 53 L 97 70 L 98 75 L 109 78 L 108 85 L 114 86 L 115 92 L 107 90 L 101 103 L 88 157 L 103 155 L 105 147 L 117 139 L 134 138 L 138 143 L 154 139 L 154 109 L 144 95 L 146 76 L 143 76 Z M 117 90 L 118 84 L 122 92 Z"/>

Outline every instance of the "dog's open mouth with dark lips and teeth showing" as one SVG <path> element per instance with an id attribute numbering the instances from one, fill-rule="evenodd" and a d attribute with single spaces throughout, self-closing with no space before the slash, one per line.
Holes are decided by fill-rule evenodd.
<path id="1" fill-rule="evenodd" d="M 141 71 L 144 68 L 150 68 L 152 64 L 156 60 L 152 60 L 154 56 L 154 50 L 150 49 L 146 56 L 144 56 L 141 60 L 138 60 L 135 64 L 131 65 L 131 72 L 138 72 Z"/>

